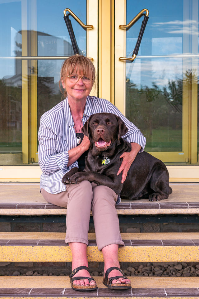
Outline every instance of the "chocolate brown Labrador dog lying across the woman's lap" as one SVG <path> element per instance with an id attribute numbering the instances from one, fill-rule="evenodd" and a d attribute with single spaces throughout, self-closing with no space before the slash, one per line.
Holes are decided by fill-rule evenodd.
<path id="1" fill-rule="evenodd" d="M 108 186 L 129 200 L 149 198 L 150 201 L 159 201 L 168 198 L 172 193 L 168 170 L 161 160 L 147 152 L 137 154 L 123 184 L 122 173 L 117 176 L 122 163 L 120 156 L 131 151 L 131 144 L 122 138 L 127 131 L 125 123 L 115 114 L 91 115 L 82 127 L 82 133 L 90 140 L 86 167 L 84 171 L 72 168 L 63 176 L 62 183 L 87 180 Z"/>

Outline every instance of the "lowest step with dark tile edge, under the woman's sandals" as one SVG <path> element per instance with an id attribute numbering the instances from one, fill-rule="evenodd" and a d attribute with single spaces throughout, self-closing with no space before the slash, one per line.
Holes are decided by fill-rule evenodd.
<path id="1" fill-rule="evenodd" d="M 2 276 L 1 298 L 198 298 L 198 277 L 128 277 L 130 290 L 110 290 L 102 283 L 102 277 L 94 277 L 98 289 L 78 292 L 71 288 L 69 277 Z"/>

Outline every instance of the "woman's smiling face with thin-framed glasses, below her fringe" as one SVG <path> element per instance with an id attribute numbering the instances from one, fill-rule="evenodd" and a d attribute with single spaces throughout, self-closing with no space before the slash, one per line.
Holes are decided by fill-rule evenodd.
<path id="1" fill-rule="evenodd" d="M 76 74 L 78 76 L 85 75 L 80 73 L 79 71 L 76 71 Z M 90 94 L 90 91 L 92 89 L 93 80 L 91 80 L 89 84 L 84 84 L 82 78 L 79 78 L 76 83 L 72 83 L 66 76 L 62 78 L 62 86 L 67 91 L 68 99 L 86 100 L 86 97 Z"/>

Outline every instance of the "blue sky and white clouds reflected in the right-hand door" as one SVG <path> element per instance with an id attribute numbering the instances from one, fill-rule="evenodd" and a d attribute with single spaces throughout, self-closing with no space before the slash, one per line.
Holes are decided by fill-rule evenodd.
<path id="1" fill-rule="evenodd" d="M 144 8 L 149 10 L 149 20 L 137 58 L 126 64 L 127 78 L 137 88 L 152 87 L 155 82 L 162 89 L 169 80 L 182 79 L 186 70 L 197 69 L 197 59 L 194 58 L 193 64 L 192 58 L 144 57 L 198 54 L 198 1 L 127 0 L 127 23 Z M 142 20 L 143 17 L 127 30 L 127 56 L 132 55 Z"/>

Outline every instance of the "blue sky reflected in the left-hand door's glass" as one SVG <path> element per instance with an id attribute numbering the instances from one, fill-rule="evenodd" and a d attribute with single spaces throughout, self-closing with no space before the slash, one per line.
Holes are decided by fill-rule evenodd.
<path id="1" fill-rule="evenodd" d="M 70 37 L 63 19 L 65 8 L 70 8 L 86 24 L 86 0 L 0 0 L 0 56 L 21 56 L 21 30 L 37 31 L 38 56 L 72 55 Z M 78 46 L 85 54 L 86 31 L 70 18 Z M 28 55 L 31 55 L 30 49 L 31 44 L 28 44 Z M 14 75 L 15 60 L 1 59 L 0 79 Z"/>

